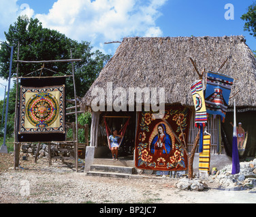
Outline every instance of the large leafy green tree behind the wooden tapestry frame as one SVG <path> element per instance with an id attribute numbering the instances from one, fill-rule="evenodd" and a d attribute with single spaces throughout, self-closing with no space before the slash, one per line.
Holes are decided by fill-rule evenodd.
<path id="1" fill-rule="evenodd" d="M 8 32 L 5 32 L 6 42 L 14 45 L 13 60 L 17 60 L 17 45 L 20 42 L 20 60 L 60 60 L 80 58 L 82 61 L 74 63 L 76 94 L 84 96 L 89 87 L 96 79 L 104 64 L 110 59 L 110 55 L 104 55 L 99 50 L 93 52 L 89 42 L 69 39 L 58 31 L 43 28 L 37 18 L 19 16 L 14 25 L 10 25 Z M 0 49 L 0 77 L 7 79 L 10 63 L 10 48 L 2 45 Z M 21 63 L 18 68 L 18 75 L 25 76 L 34 72 L 33 76 L 39 76 L 42 64 Z M 72 75 L 70 62 L 55 62 L 44 64 L 43 76 Z M 35 72 L 36 71 L 36 72 Z M 52 72 L 54 71 L 54 72 Z M 12 76 L 16 75 L 16 64 L 13 64 Z M 67 97 L 74 98 L 73 79 L 67 79 Z"/>

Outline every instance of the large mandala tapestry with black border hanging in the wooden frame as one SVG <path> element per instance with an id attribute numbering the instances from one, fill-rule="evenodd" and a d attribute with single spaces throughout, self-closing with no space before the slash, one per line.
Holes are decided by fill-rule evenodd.
<path id="1" fill-rule="evenodd" d="M 19 142 L 65 140 L 65 77 L 20 80 Z"/>

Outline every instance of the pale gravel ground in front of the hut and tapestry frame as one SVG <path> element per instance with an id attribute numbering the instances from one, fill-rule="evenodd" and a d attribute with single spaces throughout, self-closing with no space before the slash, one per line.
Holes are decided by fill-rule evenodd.
<path id="1" fill-rule="evenodd" d="M 86 176 L 81 168 L 74 172 L 60 161 L 49 167 L 47 159 L 32 157 L 14 170 L 12 161 L 0 155 L 0 203 L 256 203 L 255 193 L 219 189 L 211 179 L 205 191 L 182 191 L 173 178 Z"/>

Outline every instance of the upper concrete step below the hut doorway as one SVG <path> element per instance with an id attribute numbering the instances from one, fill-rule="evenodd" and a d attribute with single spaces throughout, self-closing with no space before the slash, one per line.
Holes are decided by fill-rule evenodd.
<path id="1" fill-rule="evenodd" d="M 91 165 L 90 172 L 114 172 L 118 174 L 134 174 L 134 167 L 118 165 Z"/>

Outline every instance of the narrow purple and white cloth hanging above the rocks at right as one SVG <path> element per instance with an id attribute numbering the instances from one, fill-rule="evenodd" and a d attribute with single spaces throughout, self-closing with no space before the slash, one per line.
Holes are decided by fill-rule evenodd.
<path id="1" fill-rule="evenodd" d="M 236 132 L 236 100 L 234 100 L 234 127 L 233 127 L 233 142 L 232 142 L 232 172 L 231 174 L 239 174 L 240 161 L 238 154 L 238 136 Z"/>

